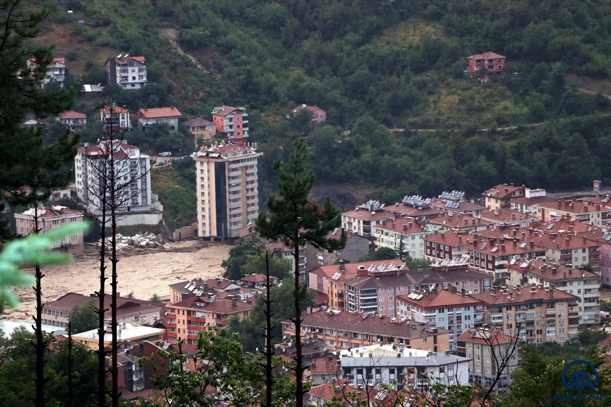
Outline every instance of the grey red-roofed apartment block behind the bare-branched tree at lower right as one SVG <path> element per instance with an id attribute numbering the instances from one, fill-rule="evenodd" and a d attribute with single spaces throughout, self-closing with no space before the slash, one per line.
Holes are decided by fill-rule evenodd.
<path id="1" fill-rule="evenodd" d="M 513 371 L 522 360 L 518 337 L 489 328 L 471 328 L 456 339 L 456 344 L 458 356 L 469 359 L 469 383 L 481 383 L 490 388 L 504 364 L 492 391 L 497 394 L 507 391 L 513 381 Z"/>

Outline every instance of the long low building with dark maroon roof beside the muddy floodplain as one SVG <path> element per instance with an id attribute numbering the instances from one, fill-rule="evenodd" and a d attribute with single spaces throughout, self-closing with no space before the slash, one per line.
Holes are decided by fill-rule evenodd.
<path id="1" fill-rule="evenodd" d="M 111 303 L 111 295 L 106 294 L 104 304 Z M 95 294 L 87 295 L 69 292 L 55 301 L 45 302 L 43 308 L 43 323 L 51 326 L 64 328 L 68 326 L 70 312 L 76 305 L 84 306 L 89 301 L 94 301 L 98 307 L 100 300 Z M 119 323 L 131 323 L 133 325 L 146 325 L 164 317 L 166 307 L 164 304 L 153 301 L 137 300 L 136 298 L 117 297 L 117 321 Z M 111 319 L 111 312 L 107 309 L 104 319 Z"/>

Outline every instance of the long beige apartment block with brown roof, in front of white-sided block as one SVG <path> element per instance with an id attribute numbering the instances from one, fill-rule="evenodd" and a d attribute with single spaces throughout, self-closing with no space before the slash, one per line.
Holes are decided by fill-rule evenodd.
<path id="1" fill-rule="evenodd" d="M 470 296 L 486 303 L 484 320 L 492 328 L 529 344 L 564 343 L 577 335 L 579 306 L 575 295 L 540 284 L 493 288 Z"/>

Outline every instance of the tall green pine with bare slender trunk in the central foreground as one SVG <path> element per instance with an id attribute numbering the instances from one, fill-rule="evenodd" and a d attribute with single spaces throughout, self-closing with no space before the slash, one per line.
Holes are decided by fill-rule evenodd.
<path id="1" fill-rule="evenodd" d="M 340 239 L 327 237 L 329 232 L 342 225 L 340 211 L 332 206 L 327 198 L 323 206 L 311 200 L 310 189 L 315 180 L 314 171 L 306 166 L 307 153 L 305 143 L 298 140 L 295 143 L 295 153 L 289 162 L 277 160 L 274 162 L 278 181 L 278 192 L 267 201 L 268 212 L 259 215 L 256 225 L 258 233 L 265 239 L 282 242 L 286 247 L 293 248 L 295 258 L 295 377 L 296 406 L 303 406 L 304 390 L 302 383 L 305 370 L 301 351 L 301 304 L 299 300 L 305 296 L 307 286 L 301 284 L 299 270 L 299 248 L 307 244 L 318 249 L 335 251 L 345 247 L 346 232 Z"/>

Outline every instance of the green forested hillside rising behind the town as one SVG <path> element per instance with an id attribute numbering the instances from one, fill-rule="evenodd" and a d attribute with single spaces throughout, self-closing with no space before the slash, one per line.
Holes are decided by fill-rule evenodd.
<path id="1" fill-rule="evenodd" d="M 145 56 L 156 82 L 141 91 L 108 86 L 104 101 L 82 109 L 111 97 L 134 110 L 173 104 L 188 118 L 209 118 L 220 104 L 244 106 L 268 181 L 271 162 L 307 137 L 318 182 L 373 185 L 370 195 L 384 201 L 443 189 L 478 193 L 498 182 L 549 189 L 611 182 L 609 98 L 565 80 L 571 73 L 609 82 L 604 0 L 51 7 L 43 41 L 56 42 L 58 55 L 72 51 L 68 68 L 86 83 L 104 82 L 104 60 L 120 52 Z M 486 51 L 507 56 L 511 74 L 481 85 L 464 69 L 467 56 Z M 302 103 L 326 110 L 327 124 L 285 119 Z"/>

